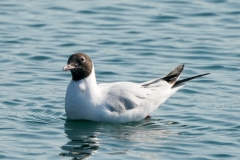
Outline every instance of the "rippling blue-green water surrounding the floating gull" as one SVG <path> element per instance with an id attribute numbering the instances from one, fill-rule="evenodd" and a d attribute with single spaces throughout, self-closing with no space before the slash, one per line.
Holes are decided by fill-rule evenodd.
<path id="1" fill-rule="evenodd" d="M 239 159 L 240 1 L 0 0 L 0 159 Z M 184 63 L 187 83 L 127 124 L 66 120 L 68 57 L 98 83 Z"/>

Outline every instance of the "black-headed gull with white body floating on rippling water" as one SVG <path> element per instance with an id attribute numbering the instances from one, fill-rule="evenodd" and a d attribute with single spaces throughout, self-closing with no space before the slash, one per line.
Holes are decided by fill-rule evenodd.
<path id="1" fill-rule="evenodd" d="M 183 87 L 184 82 L 209 74 L 178 80 L 183 68 L 183 64 L 179 65 L 165 77 L 143 83 L 97 84 L 91 58 L 75 53 L 63 67 L 72 74 L 65 97 L 67 118 L 111 123 L 142 120 Z"/>

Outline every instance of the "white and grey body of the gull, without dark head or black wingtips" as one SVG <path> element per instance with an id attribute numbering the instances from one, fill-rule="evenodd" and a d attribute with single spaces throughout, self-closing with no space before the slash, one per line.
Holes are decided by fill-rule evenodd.
<path id="1" fill-rule="evenodd" d="M 138 121 L 157 109 L 183 85 L 171 88 L 164 80 L 148 87 L 132 82 L 97 84 L 94 67 L 89 77 L 72 80 L 65 110 L 70 119 L 124 123 Z"/>

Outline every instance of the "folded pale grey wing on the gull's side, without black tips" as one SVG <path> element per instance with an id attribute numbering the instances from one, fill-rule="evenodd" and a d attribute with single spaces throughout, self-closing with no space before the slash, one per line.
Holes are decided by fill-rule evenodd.
<path id="1" fill-rule="evenodd" d="M 111 112 L 123 113 L 141 106 L 142 102 L 152 93 L 140 84 L 120 82 L 99 85 L 103 91 L 105 106 Z"/>

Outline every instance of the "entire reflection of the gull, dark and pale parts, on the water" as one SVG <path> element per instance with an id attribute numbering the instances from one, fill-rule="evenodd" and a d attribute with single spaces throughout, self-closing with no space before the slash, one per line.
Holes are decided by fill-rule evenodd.
<path id="1" fill-rule="evenodd" d="M 172 134 L 166 128 L 169 125 L 179 126 L 178 123 L 170 124 L 159 119 L 124 124 L 66 120 L 64 126 L 69 142 L 61 147 L 60 155 L 77 160 L 92 157 L 100 147 L 101 154 L 106 156 L 132 154 L 132 146 L 136 144 L 140 148 L 142 144 L 151 144 L 151 147 L 158 148 Z M 146 155 L 139 152 L 139 157 Z"/>

